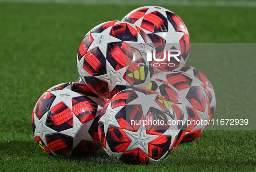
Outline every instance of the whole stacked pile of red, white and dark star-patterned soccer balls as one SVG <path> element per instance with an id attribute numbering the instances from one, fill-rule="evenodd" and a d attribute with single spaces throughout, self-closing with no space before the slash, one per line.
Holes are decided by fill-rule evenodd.
<path id="1" fill-rule="evenodd" d="M 185 24 L 159 6 L 97 25 L 78 48 L 80 77 L 48 89 L 35 105 L 39 146 L 61 157 L 103 147 L 120 162 L 151 163 L 195 140 L 216 99 L 210 81 L 185 65 L 189 51 Z"/>

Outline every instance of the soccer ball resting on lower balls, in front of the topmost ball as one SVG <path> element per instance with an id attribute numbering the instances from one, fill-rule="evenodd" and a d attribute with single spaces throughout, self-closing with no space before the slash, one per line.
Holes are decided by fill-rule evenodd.
<path id="1" fill-rule="evenodd" d="M 152 41 L 139 27 L 128 22 L 104 22 L 81 41 L 78 72 L 93 92 L 110 99 L 126 88 L 148 85 L 156 70 L 154 59 L 147 61 L 153 50 Z"/>

